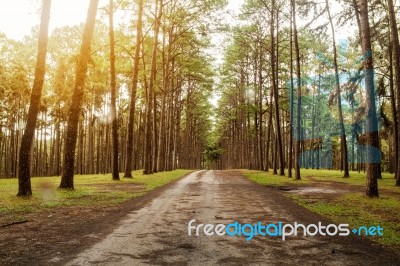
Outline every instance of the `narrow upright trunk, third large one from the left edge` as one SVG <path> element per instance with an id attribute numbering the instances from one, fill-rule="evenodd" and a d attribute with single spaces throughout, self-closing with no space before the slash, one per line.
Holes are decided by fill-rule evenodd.
<path id="1" fill-rule="evenodd" d="M 114 37 L 114 0 L 110 0 L 109 10 L 110 37 L 110 76 L 111 76 L 111 124 L 112 124 L 112 179 L 119 180 L 118 167 L 118 113 L 117 113 L 117 81 L 115 73 L 115 37 Z M 90 162 L 89 162 L 90 163 Z"/>

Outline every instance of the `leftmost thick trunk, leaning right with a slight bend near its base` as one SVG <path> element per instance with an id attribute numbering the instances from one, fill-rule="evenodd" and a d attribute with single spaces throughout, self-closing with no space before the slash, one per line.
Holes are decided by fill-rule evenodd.
<path id="1" fill-rule="evenodd" d="M 28 120 L 21 140 L 18 165 L 18 196 L 32 195 L 31 187 L 31 148 L 37 116 L 40 108 L 40 99 L 42 97 L 42 88 L 44 75 L 46 73 L 46 54 L 47 40 L 49 33 L 51 0 L 43 0 L 42 16 L 40 21 L 38 54 L 35 68 L 35 80 L 31 93 L 31 100 L 28 111 Z"/>

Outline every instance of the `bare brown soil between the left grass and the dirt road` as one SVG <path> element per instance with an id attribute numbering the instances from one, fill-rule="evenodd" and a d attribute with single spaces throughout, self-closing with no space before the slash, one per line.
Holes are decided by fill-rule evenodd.
<path id="1" fill-rule="evenodd" d="M 15 224 L 15 215 L 0 217 L 0 265 L 62 265 L 111 233 L 124 216 L 142 208 L 175 182 L 119 206 L 52 208 L 24 215 Z M 111 186 L 104 186 L 104 191 L 143 191 L 139 185 Z"/>

